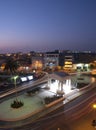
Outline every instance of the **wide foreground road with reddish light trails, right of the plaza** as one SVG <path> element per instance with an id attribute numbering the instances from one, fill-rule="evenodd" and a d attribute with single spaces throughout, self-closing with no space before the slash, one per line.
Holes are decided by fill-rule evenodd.
<path id="1" fill-rule="evenodd" d="M 14 130 L 59 130 L 59 128 L 60 130 L 72 130 L 70 124 L 90 113 L 92 111 L 92 104 L 95 101 L 96 87 L 35 123 L 30 123 Z M 83 130 L 83 128 L 81 129 Z"/>

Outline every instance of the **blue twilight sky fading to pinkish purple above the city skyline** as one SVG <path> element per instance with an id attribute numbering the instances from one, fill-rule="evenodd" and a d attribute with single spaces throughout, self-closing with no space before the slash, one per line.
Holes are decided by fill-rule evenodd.
<path id="1" fill-rule="evenodd" d="M 0 53 L 96 51 L 96 0 L 0 0 Z"/>

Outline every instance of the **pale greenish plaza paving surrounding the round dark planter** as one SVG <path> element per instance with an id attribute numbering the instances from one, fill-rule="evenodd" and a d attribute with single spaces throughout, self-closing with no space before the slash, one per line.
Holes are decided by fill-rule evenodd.
<path id="1" fill-rule="evenodd" d="M 54 93 L 41 90 L 35 95 L 29 96 L 24 93 L 18 96 L 18 100 L 24 102 L 24 106 L 18 109 L 11 108 L 10 104 L 14 98 L 6 100 L 0 104 L 0 120 L 13 121 L 31 116 L 32 114 L 44 108 L 43 98 L 52 96 Z"/>

